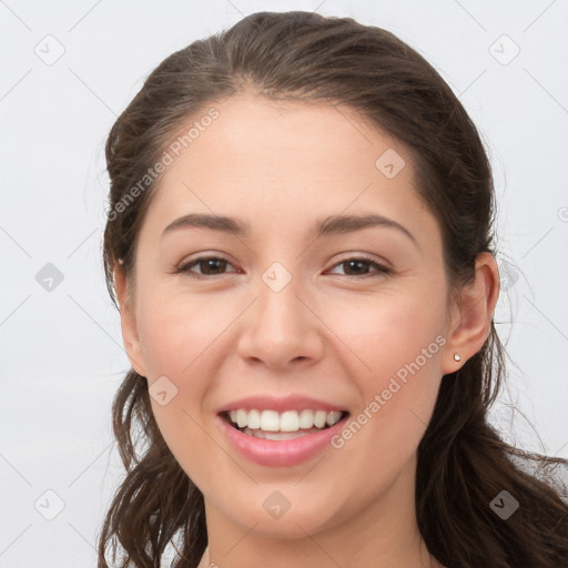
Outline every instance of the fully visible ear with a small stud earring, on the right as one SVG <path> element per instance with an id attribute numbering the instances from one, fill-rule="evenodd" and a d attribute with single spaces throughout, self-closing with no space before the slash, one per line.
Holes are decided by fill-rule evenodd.
<path id="1" fill-rule="evenodd" d="M 480 253 L 475 262 L 475 278 L 464 286 L 453 306 L 449 336 L 444 349 L 442 372 L 458 371 L 487 339 L 499 296 L 499 271 L 490 253 Z M 455 361 L 458 354 L 460 361 Z"/>

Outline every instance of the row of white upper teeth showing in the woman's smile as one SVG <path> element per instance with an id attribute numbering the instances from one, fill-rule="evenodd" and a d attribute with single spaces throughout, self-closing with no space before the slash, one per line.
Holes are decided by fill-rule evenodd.
<path id="1" fill-rule="evenodd" d="M 250 430 L 263 432 L 298 432 L 300 429 L 310 428 L 324 428 L 333 426 L 339 422 L 342 412 L 332 410 L 310 410 L 304 409 L 300 413 L 297 410 L 285 410 L 277 413 L 276 410 L 245 410 L 239 408 L 231 410 L 229 416 L 231 422 L 236 424 L 241 429 L 247 428 Z"/>

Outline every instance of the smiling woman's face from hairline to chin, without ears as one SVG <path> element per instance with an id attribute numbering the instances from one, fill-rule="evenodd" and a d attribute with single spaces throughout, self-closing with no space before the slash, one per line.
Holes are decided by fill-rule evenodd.
<path id="1" fill-rule="evenodd" d="M 295 538 L 393 514 L 414 504 L 417 446 L 458 365 L 440 230 L 410 156 L 345 108 L 253 94 L 214 106 L 162 175 L 136 250 L 133 331 L 123 321 L 160 429 L 207 523 Z M 175 224 L 185 215 L 234 222 Z M 303 442 L 265 440 L 220 414 L 239 408 L 291 410 L 260 418 L 293 430 L 301 410 L 348 416 Z M 241 417 L 257 428 L 253 414 Z"/>

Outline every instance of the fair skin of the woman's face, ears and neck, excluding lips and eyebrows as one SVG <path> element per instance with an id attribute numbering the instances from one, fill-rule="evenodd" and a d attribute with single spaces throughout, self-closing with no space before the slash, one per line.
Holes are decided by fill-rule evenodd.
<path id="1" fill-rule="evenodd" d="M 399 142 L 353 111 L 276 103 L 252 93 L 215 104 L 220 118 L 160 180 L 140 233 L 135 294 L 116 271 L 124 345 L 149 386 L 166 376 L 178 395 L 152 409 L 181 467 L 204 495 L 209 561 L 220 568 L 440 566 L 415 515 L 416 452 L 444 374 L 488 335 L 498 295 L 489 254 L 454 301 L 438 223 L 413 182 Z M 347 120 L 348 119 L 348 120 Z M 193 121 L 190 121 L 193 122 Z M 376 166 L 388 149 L 406 165 Z M 164 229 L 187 213 L 247 222 L 246 236 Z M 379 214 L 406 229 L 322 235 L 331 215 Z M 347 263 L 361 255 L 392 270 Z M 225 265 L 175 267 L 197 256 Z M 280 292 L 262 278 L 275 262 Z M 191 274 L 203 274 L 203 280 Z M 211 274 L 211 275 L 205 275 Z M 291 467 L 247 460 L 217 426 L 220 406 L 255 394 L 307 395 L 356 417 L 397 371 L 442 336 L 419 371 L 341 448 Z M 454 361 L 459 353 L 462 361 Z M 290 509 L 263 501 L 275 490 Z"/>

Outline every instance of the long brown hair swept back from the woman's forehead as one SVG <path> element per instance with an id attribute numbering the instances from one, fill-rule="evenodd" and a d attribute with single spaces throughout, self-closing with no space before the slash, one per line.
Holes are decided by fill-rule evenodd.
<path id="1" fill-rule="evenodd" d="M 166 58 L 113 125 L 103 253 L 113 302 L 114 270 L 133 282 L 136 237 L 160 178 L 128 204 L 125 197 L 189 119 L 244 89 L 271 99 L 349 105 L 405 143 L 419 192 L 442 227 L 456 290 L 473 278 L 477 254 L 495 254 L 490 165 L 475 125 L 434 68 L 388 31 L 351 18 L 261 12 Z M 447 567 L 567 566 L 566 487 L 555 486 L 552 474 L 568 462 L 513 447 L 489 425 L 503 378 L 504 349 L 491 322 L 484 347 L 442 379 L 418 447 L 419 530 Z M 146 379 L 133 369 L 112 413 L 126 475 L 102 527 L 99 567 L 108 567 L 111 542 L 114 554 L 116 545 L 122 548 L 121 566 L 150 568 L 178 541 L 176 568 L 195 568 L 207 545 L 203 495 L 168 448 Z M 490 505 L 501 491 L 519 503 L 506 520 Z"/>

